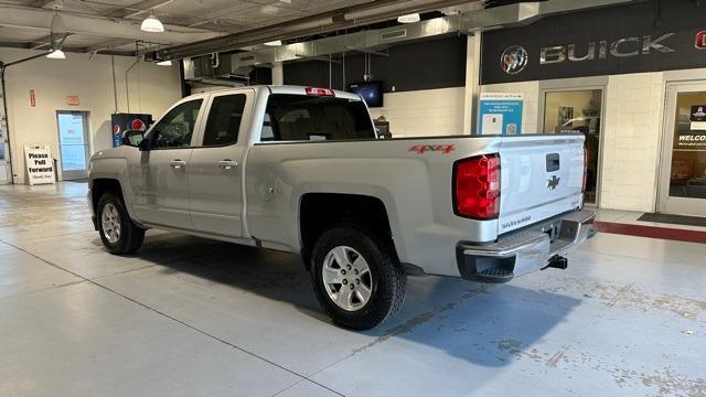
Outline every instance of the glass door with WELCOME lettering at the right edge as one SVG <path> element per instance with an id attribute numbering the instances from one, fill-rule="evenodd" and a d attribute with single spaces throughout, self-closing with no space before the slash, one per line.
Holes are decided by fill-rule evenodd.
<path id="1" fill-rule="evenodd" d="M 706 216 L 706 83 L 667 85 L 660 212 Z"/>

